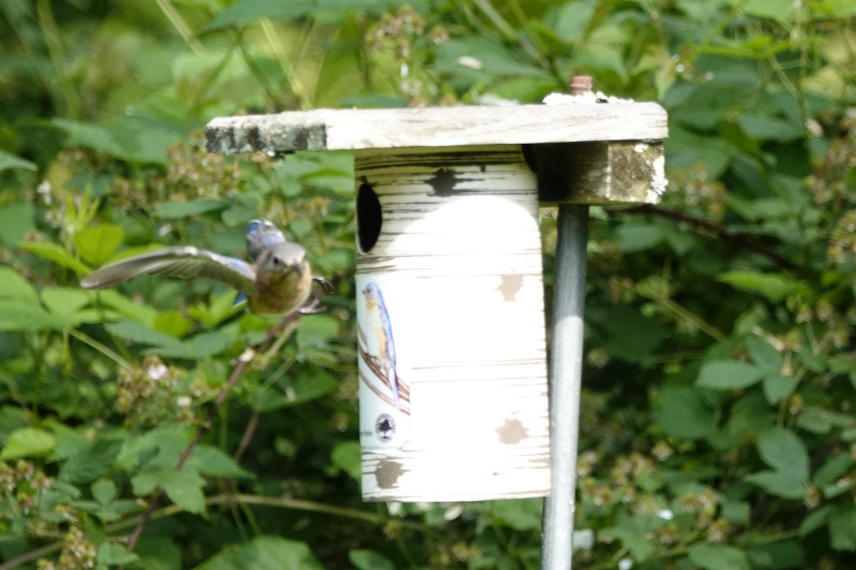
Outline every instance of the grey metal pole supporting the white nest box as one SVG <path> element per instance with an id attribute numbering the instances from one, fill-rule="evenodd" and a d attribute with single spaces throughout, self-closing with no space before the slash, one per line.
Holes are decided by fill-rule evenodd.
<path id="1" fill-rule="evenodd" d="M 550 496 L 544 500 L 542 570 L 570 570 L 580 436 L 588 205 L 560 205 L 550 340 Z"/>

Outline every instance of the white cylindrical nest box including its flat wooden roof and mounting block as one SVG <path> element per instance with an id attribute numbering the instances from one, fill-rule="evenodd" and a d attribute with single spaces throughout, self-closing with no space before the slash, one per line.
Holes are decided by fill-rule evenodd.
<path id="1" fill-rule="evenodd" d="M 209 123 L 209 151 L 356 151 L 364 498 L 549 493 L 538 205 L 656 201 L 665 135 L 656 104 Z"/>

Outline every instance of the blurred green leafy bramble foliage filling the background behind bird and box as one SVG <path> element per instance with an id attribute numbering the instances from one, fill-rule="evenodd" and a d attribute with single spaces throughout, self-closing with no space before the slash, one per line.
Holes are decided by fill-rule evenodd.
<path id="1" fill-rule="evenodd" d="M 0 568 L 538 567 L 538 501 L 360 502 L 348 154 L 219 157 L 198 137 L 244 112 L 538 102 L 570 74 L 670 117 L 663 204 L 592 210 L 575 567 L 852 560 L 852 2 L 0 15 Z M 270 323 L 211 282 L 77 282 L 163 244 L 241 254 L 259 215 L 336 294 L 216 407 Z M 158 486 L 169 500 L 126 553 Z"/>

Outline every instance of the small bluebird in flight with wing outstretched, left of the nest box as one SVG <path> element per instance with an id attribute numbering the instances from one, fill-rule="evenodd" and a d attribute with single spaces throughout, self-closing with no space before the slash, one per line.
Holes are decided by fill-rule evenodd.
<path id="1" fill-rule="evenodd" d="M 241 291 L 249 311 L 265 317 L 299 310 L 309 298 L 312 280 L 320 280 L 312 277 L 306 250 L 286 240 L 266 220 L 249 223 L 247 252 L 253 264 L 199 247 L 167 247 L 102 267 L 84 277 L 80 285 L 104 289 L 144 273 L 185 279 L 208 277 Z"/>

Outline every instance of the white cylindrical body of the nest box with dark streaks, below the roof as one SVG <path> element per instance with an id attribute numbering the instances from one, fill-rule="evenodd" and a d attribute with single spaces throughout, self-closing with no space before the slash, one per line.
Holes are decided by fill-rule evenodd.
<path id="1" fill-rule="evenodd" d="M 357 288 L 383 290 L 407 386 L 396 412 L 358 295 L 364 498 L 544 496 L 550 422 L 538 193 L 520 147 L 358 151 L 356 174 L 381 210 L 365 218 L 358 207 L 358 225 L 381 223 L 374 245 L 360 246 Z M 380 442 L 384 413 L 397 431 Z"/>

